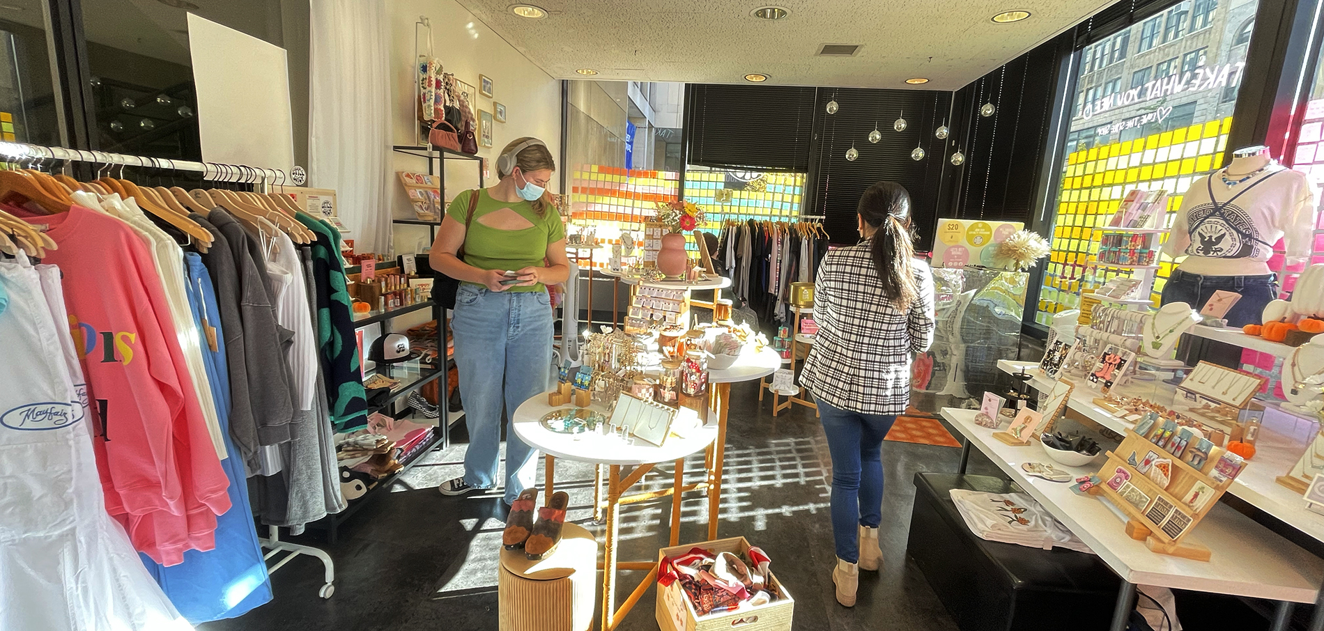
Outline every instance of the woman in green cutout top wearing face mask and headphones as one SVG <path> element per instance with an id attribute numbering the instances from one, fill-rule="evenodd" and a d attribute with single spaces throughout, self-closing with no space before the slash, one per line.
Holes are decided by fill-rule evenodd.
<path id="1" fill-rule="evenodd" d="M 542 140 L 507 144 L 496 159 L 496 185 L 455 196 L 432 245 L 432 269 L 461 282 L 450 328 L 469 427 L 465 475 L 444 482 L 444 495 L 496 487 L 502 407 L 514 413 L 547 389 L 552 365 L 547 286 L 569 275 L 565 226 L 545 194 L 553 171 L 556 161 Z M 455 257 L 461 246 L 463 261 Z M 534 455 L 507 427 L 506 504 L 534 485 Z"/>

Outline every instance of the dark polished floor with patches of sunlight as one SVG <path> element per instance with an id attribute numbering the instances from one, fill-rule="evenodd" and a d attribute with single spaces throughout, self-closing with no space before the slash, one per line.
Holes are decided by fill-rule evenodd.
<path id="1" fill-rule="evenodd" d="M 794 628 L 955 631 L 956 626 L 914 562 L 906 558 L 918 471 L 955 471 L 960 450 L 886 442 L 882 571 L 862 573 L 859 602 L 837 605 L 830 568 L 834 561 L 828 516 L 830 459 L 813 410 L 797 406 L 777 418 L 768 401 L 759 403 L 755 384 L 732 386 L 726 489 L 722 496 L 723 537 L 744 536 L 772 557 L 779 579 L 796 599 Z M 301 557 L 273 575 L 275 599 L 248 615 L 204 624 L 204 631 L 262 630 L 496 630 L 496 556 L 503 508 L 498 495 L 445 497 L 436 489 L 459 475 L 465 431 L 457 426 L 446 451 L 434 451 L 397 484 L 344 525 L 340 541 L 315 538 L 336 564 L 336 591 L 318 598 L 322 565 Z M 702 455 L 687 470 L 698 479 Z M 990 463 L 972 459 L 974 474 L 993 475 Z M 569 520 L 601 533 L 592 523 L 589 466 L 559 463 L 556 488 L 571 493 Z M 542 479 L 542 471 L 539 472 Z M 670 483 L 663 471 L 645 482 Z M 707 501 L 691 493 L 683 504 L 681 541 L 706 538 Z M 624 511 L 621 560 L 655 560 L 670 533 L 670 504 L 636 504 Z M 601 540 L 600 540 L 601 541 Z M 622 594 L 643 573 L 622 574 Z M 649 590 L 618 627 L 655 630 L 654 590 Z"/>

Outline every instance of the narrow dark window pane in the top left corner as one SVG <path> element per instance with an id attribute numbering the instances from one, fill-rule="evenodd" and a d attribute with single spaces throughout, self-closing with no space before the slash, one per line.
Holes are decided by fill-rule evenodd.
<path id="1" fill-rule="evenodd" d="M 0 12 L 0 140 L 61 144 L 41 3 Z"/>

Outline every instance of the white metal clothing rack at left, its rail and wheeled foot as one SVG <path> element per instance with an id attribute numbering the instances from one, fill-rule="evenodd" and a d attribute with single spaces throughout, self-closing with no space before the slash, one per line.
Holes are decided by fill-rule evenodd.
<path id="1" fill-rule="evenodd" d="M 49 160 L 62 160 L 66 164 L 71 161 L 103 164 L 106 167 L 143 167 L 143 168 L 164 168 L 192 173 L 201 173 L 203 180 L 212 181 L 228 181 L 237 184 L 253 184 L 257 192 L 267 192 L 273 180 L 277 180 L 277 185 L 283 185 L 287 180 L 285 171 L 271 169 L 271 168 L 258 168 L 249 167 L 245 164 L 224 164 L 224 163 L 197 163 L 191 160 L 172 160 L 167 157 L 147 157 L 147 156 L 132 156 L 124 153 L 109 153 L 105 151 L 89 151 L 89 149 L 70 149 L 65 147 L 45 147 L 40 144 L 28 143 L 0 143 L 0 161 L 19 161 L 19 163 L 44 163 Z M 232 456 L 233 458 L 233 456 Z M 310 557 L 316 557 L 322 561 L 326 574 L 326 585 L 320 587 L 318 595 L 322 598 L 331 598 L 335 593 L 335 561 L 331 556 L 319 548 L 312 548 L 310 545 L 290 544 L 281 541 L 281 529 L 278 526 L 267 526 L 269 537 L 258 537 L 262 548 L 271 552 L 266 553 L 262 558 L 270 561 L 271 557 L 281 552 L 287 552 L 286 557 L 281 558 L 267 568 L 267 574 L 274 574 L 275 570 L 281 569 L 285 564 L 290 562 L 294 557 L 299 554 L 307 554 Z"/>

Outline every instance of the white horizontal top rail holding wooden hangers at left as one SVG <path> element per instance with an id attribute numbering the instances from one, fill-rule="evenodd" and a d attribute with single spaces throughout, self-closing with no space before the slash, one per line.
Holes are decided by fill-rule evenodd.
<path id="1" fill-rule="evenodd" d="M 199 163 L 169 157 L 132 156 L 97 149 L 70 149 L 29 143 L 0 143 L 0 157 L 7 161 L 46 161 L 103 164 L 106 167 L 140 167 L 201 173 L 204 180 L 283 185 L 289 176 L 282 169 L 249 167 L 246 164 Z"/>

